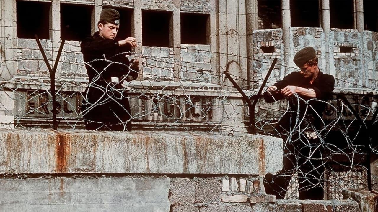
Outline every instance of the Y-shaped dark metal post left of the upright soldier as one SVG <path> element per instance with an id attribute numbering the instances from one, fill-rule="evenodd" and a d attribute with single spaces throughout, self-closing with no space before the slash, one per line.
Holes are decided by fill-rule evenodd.
<path id="1" fill-rule="evenodd" d="M 50 90 L 51 90 L 51 98 L 53 101 L 53 109 L 51 111 L 53 112 L 53 129 L 55 130 L 58 127 L 57 120 L 56 120 L 55 73 L 56 73 L 56 68 L 58 66 L 58 63 L 59 63 L 60 55 L 62 54 L 64 40 L 62 40 L 62 43 L 60 43 L 59 51 L 58 51 L 58 54 L 56 56 L 55 63 L 54 63 L 54 68 L 51 69 L 50 63 L 48 62 L 45 51 L 42 48 L 42 45 L 41 45 L 41 42 L 39 41 L 38 36 L 34 35 L 34 37 L 36 38 L 37 45 L 39 47 L 39 50 L 41 51 L 43 60 L 45 61 L 47 69 L 50 73 Z"/>

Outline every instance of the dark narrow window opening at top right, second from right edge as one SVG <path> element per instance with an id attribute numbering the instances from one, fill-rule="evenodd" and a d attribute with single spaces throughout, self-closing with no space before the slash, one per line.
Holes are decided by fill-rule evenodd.
<path id="1" fill-rule="evenodd" d="M 330 0 L 331 28 L 353 29 L 353 0 Z"/>

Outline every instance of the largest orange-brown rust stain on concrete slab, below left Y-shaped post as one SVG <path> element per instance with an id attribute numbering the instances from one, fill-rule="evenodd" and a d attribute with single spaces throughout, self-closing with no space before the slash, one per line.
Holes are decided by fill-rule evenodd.
<path id="1" fill-rule="evenodd" d="M 67 159 L 70 155 L 70 142 L 68 136 L 64 134 L 56 134 L 56 169 L 58 173 L 67 172 Z"/>

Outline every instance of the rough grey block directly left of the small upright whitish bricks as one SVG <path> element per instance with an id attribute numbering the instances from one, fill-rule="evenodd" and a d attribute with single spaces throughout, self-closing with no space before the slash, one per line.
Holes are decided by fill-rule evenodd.
<path id="1" fill-rule="evenodd" d="M 216 203 L 220 201 L 221 185 L 218 180 L 203 179 L 196 185 L 196 203 Z"/>

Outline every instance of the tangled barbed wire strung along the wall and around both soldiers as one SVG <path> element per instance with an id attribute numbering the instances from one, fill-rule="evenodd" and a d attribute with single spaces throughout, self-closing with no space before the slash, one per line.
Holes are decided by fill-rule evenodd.
<path id="1" fill-rule="evenodd" d="M 66 45 L 80 47 L 71 43 Z M 254 57 L 187 48 L 187 46 L 185 48 L 173 46 L 173 48 L 248 58 L 253 62 L 270 64 L 269 61 L 256 60 Z M 51 52 L 51 57 L 57 53 L 55 49 L 48 51 Z M 267 104 L 261 97 L 255 97 L 257 92 L 249 87 L 249 83 L 261 87 L 263 80 L 256 77 L 248 80 L 231 72 L 231 77 L 239 82 L 248 98 L 259 100 L 254 114 L 256 122 L 249 123 L 250 111 L 246 101 L 240 97 L 232 84 L 225 80 L 222 73 L 214 72 L 217 68 L 226 71 L 219 64 L 214 67 L 208 62 L 206 63 L 209 66 L 208 70 L 203 70 L 203 67 L 195 62 L 186 63 L 170 54 L 166 57 L 170 60 L 135 52 L 122 52 L 120 55 L 139 58 L 141 60 L 139 66 L 144 69 L 143 77 L 132 82 L 124 81 L 131 73 L 132 64 L 112 61 L 112 58 L 92 60 L 87 63 L 81 58 L 75 58 L 74 61 L 60 60 L 61 68 L 57 69 L 60 77 L 56 79 L 59 128 L 84 129 L 84 123 L 92 121 L 84 117 L 96 107 L 109 107 L 109 103 L 114 103 L 118 107 L 116 111 L 112 111 L 112 115 L 119 123 L 121 131 L 128 130 L 131 122 L 133 130 L 184 130 L 188 133 L 201 131 L 222 135 L 246 134 L 247 129 L 254 126 L 256 132 L 260 134 L 283 139 L 284 169 L 271 177 L 266 177 L 267 192 L 279 198 L 303 198 L 306 192 L 313 192 L 320 187 L 321 191 L 327 194 L 327 198 L 337 199 L 342 198 L 341 192 L 337 190 L 345 186 L 367 187 L 365 143 L 369 144 L 371 152 L 378 153 L 376 145 L 372 142 L 375 135 L 369 137 L 366 131 L 367 127 L 377 124 L 377 120 L 372 120 L 377 110 L 378 98 L 375 98 L 375 95 L 366 95 L 365 100 L 364 97 L 357 99 L 353 96 L 347 97 L 362 117 L 363 123 L 359 123 L 353 111 L 344 101 L 339 100 L 336 94 L 333 94 L 334 100 L 331 101 L 293 95 Z M 211 55 L 210 60 L 213 58 L 214 56 Z M 20 62 L 26 60 L 38 60 L 41 63 L 37 63 L 36 69 L 33 70 L 27 67 L 25 73 L 16 76 L 17 80 L 3 80 L 0 83 L 1 98 L 14 102 L 13 107 L 8 105 L 8 101 L 0 102 L 1 111 L 4 113 L 0 114 L 4 117 L 0 125 L 8 128 L 51 128 L 53 120 L 50 77 L 42 57 L 17 55 L 1 61 L 0 65 L 5 63 L 20 65 Z M 108 66 L 102 70 L 92 66 L 96 77 L 88 84 L 85 66 L 91 68 L 91 64 L 104 61 Z M 164 65 L 157 65 L 157 62 L 162 62 Z M 70 66 L 68 69 L 62 69 L 63 65 Z M 100 82 L 102 80 L 100 76 L 106 74 L 107 69 L 112 65 L 128 70 L 118 78 L 118 81 L 124 82 L 106 80 Z M 180 67 L 179 75 L 174 70 L 174 66 Z M 300 70 L 280 63 L 276 63 L 274 69 L 280 70 L 281 68 L 276 67 L 281 66 L 291 71 Z M 146 67 L 154 68 L 155 72 L 147 72 Z M 184 75 L 189 77 L 186 78 Z M 270 79 L 265 86 L 274 85 L 276 83 L 274 80 L 279 80 L 279 77 L 272 76 Z M 367 88 L 336 77 L 335 79 Z M 88 89 L 95 89 L 95 93 L 100 95 L 97 101 L 91 102 L 91 92 L 88 92 Z M 375 88 L 368 89 L 376 91 Z M 130 103 L 129 108 L 123 104 L 125 99 Z M 82 103 L 87 103 L 87 107 L 83 107 Z M 317 104 L 324 105 L 325 111 L 321 113 L 316 111 L 314 105 Z M 122 117 L 124 114 L 129 117 Z M 100 124 L 97 129 L 112 128 L 96 120 L 95 123 Z"/>

